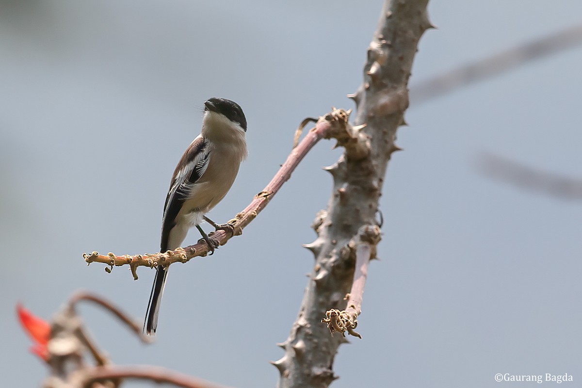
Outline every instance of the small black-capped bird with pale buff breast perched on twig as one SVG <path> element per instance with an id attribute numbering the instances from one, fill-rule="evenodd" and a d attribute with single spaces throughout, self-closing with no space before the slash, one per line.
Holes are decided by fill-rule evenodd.
<path id="1" fill-rule="evenodd" d="M 233 232 L 230 224 L 217 224 L 205 216 L 236 179 L 240 163 L 246 159 L 247 119 L 234 101 L 213 97 L 204 102 L 201 133 L 194 138 L 174 170 L 162 218 L 160 252 L 175 250 L 196 226 L 208 244 L 210 254 L 218 241 L 208 237 L 200 224 L 203 220 L 216 230 Z M 164 293 L 168 268 L 158 265 L 150 301 L 145 314 L 144 333 L 155 335 L 159 306 Z"/>

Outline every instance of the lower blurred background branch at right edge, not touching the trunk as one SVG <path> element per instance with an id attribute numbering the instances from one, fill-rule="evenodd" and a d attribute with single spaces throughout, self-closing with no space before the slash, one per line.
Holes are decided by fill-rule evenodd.
<path id="1" fill-rule="evenodd" d="M 484 153 L 477 159 L 478 170 L 492 179 L 562 200 L 582 200 L 582 179 L 544 172 L 501 156 Z"/>

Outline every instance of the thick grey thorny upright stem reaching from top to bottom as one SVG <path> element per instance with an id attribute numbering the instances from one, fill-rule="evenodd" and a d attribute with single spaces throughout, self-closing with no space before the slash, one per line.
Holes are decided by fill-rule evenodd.
<path id="1" fill-rule="evenodd" d="M 281 372 L 279 387 L 327 387 L 336 376 L 333 358 L 342 336 L 330 336 L 320 321 L 330 308 L 345 309 L 352 286 L 361 230 L 375 230 L 378 200 L 396 129 L 404 123 L 408 107 L 407 83 L 418 40 L 431 27 L 428 0 L 386 0 L 378 30 L 368 48 L 364 83 L 352 98 L 357 105 L 355 124 L 365 124 L 357 141 L 368 152 L 346 147 L 335 165 L 333 192 L 326 210 L 318 213 L 314 229 L 318 237 L 307 244 L 315 266 L 289 338 L 280 346 L 285 355 L 274 365 Z M 346 144 L 340 144 L 346 145 Z M 378 238 L 372 239 L 378 241 Z M 372 246 L 372 258 L 375 244 Z"/>

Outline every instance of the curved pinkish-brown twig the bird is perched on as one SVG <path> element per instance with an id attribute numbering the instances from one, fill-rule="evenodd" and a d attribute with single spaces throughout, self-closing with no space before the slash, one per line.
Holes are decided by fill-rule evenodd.
<path id="1" fill-rule="evenodd" d="M 269 184 L 267 184 L 260 193 L 255 195 L 253 201 L 251 201 L 242 212 L 238 213 L 234 219 L 229 221 L 229 223 L 234 226 L 235 236 L 242 234 L 244 227 L 249 225 L 249 223 L 257 217 L 258 213 L 267 206 L 269 201 L 271 201 L 271 198 L 273 198 L 281 186 L 283 186 L 283 183 L 289 180 L 294 169 L 299 165 L 299 162 L 301 162 L 307 152 L 313 148 L 321 138 L 336 138 L 339 145 L 344 145 L 345 147 L 352 149 L 354 155 L 357 154 L 359 156 L 367 152 L 365 147 L 360 146 L 361 141 L 357 140 L 363 136 L 363 134 L 360 133 L 362 126 L 352 127 L 350 125 L 350 112 L 351 110 L 344 111 L 343 109 L 333 108 L 332 112 L 317 120 L 315 127 L 308 131 L 297 147 L 293 148 L 287 160 L 283 163 Z M 310 118 L 306 120 L 302 123 L 303 126 L 307 124 L 308 120 L 313 119 Z M 229 236 L 223 230 L 211 233 L 211 236 L 217 239 L 221 245 L 226 244 L 226 241 L 233 237 Z M 100 255 L 98 252 L 93 252 L 91 254 L 83 254 L 83 258 L 87 264 L 99 262 L 109 265 L 110 268 L 105 268 L 107 272 L 111 272 L 113 266 L 129 265 L 132 270 L 133 279 L 137 280 L 136 269 L 139 266 L 154 268 L 158 265 L 169 266 L 175 262 L 185 263 L 191 258 L 204 256 L 207 253 L 208 245 L 203 242 L 203 240 L 200 240 L 197 244 L 190 245 L 189 247 L 155 254 L 118 256 L 113 253 Z"/>

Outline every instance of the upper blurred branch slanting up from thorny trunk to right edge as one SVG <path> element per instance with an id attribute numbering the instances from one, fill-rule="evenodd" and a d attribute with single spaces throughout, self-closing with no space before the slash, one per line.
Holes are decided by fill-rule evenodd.
<path id="1" fill-rule="evenodd" d="M 582 24 L 578 24 L 469 65 L 457 67 L 426 81 L 420 81 L 411 86 L 410 101 L 413 104 L 421 104 L 460 87 L 496 76 L 532 60 L 556 54 L 581 43 Z"/>

